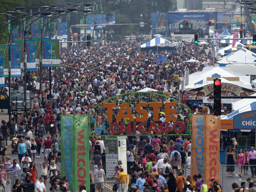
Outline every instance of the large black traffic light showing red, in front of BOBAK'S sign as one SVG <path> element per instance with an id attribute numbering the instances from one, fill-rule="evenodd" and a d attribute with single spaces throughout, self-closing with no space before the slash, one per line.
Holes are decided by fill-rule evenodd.
<path id="1" fill-rule="evenodd" d="M 214 97 L 214 103 L 213 103 L 213 110 L 214 115 L 221 115 L 221 80 L 220 79 L 214 79 L 213 80 L 213 97 Z"/>

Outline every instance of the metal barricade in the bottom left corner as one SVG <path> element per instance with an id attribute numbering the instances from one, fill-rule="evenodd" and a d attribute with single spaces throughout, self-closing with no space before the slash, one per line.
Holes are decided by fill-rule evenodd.
<path id="1" fill-rule="evenodd" d="M 5 192 L 11 192 L 11 188 L 15 184 L 16 179 L 20 179 L 21 173 L 21 169 L 0 170 L 0 179 L 4 182 Z"/>

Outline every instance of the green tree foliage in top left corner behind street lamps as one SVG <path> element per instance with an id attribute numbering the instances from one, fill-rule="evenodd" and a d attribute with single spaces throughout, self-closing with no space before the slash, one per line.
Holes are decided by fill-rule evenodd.
<path id="1" fill-rule="evenodd" d="M 0 13 L 6 13 L 6 11 L 16 11 L 15 7 L 40 7 L 43 5 L 51 5 L 54 4 L 55 0 L 1 0 Z M 33 10 L 35 11 L 35 10 Z M 22 10 L 22 12 L 29 12 L 29 9 Z M 19 14 L 13 14 L 19 15 Z M 7 15 L 0 15 L 0 20 L 6 19 Z M 6 22 L 6 21 L 5 21 Z M 13 22 L 12 25 L 17 25 L 18 22 Z M 0 27 L 4 26 L 4 22 L 0 22 Z M 6 44 L 8 35 L 7 35 L 7 27 L 4 27 L 0 30 L 0 44 Z"/>

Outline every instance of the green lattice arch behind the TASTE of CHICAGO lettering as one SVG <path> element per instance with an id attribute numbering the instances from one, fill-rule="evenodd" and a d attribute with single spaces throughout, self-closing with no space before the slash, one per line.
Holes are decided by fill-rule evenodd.
<path id="1" fill-rule="evenodd" d="M 130 93 L 123 93 L 120 95 L 115 95 L 111 98 L 108 98 L 100 103 L 95 103 L 96 105 L 89 110 L 89 129 L 91 132 L 90 136 L 94 136 L 93 132 L 96 133 L 97 136 L 113 136 L 110 133 L 110 125 L 114 122 L 116 122 L 116 117 L 118 114 L 118 108 L 120 107 L 121 103 L 129 103 L 129 108 L 133 114 L 133 118 L 136 117 L 138 114 L 135 110 L 136 105 L 139 102 L 162 102 L 163 106 L 159 108 L 159 114 L 160 112 L 165 112 L 165 102 L 176 102 L 177 106 L 174 107 L 174 109 L 177 111 L 177 121 L 175 122 L 170 122 L 174 123 L 174 126 L 172 130 L 168 133 L 156 133 L 153 132 L 153 134 L 150 132 L 147 134 L 141 134 L 140 135 L 191 135 L 191 109 L 188 108 L 188 106 L 184 105 L 183 103 L 177 101 L 176 99 L 172 97 L 168 97 L 167 95 L 162 95 L 158 93 L 153 93 L 153 92 L 130 92 Z M 112 111 L 112 122 L 107 122 L 107 113 L 106 113 L 106 108 L 103 108 L 103 103 L 116 103 L 116 108 L 113 108 Z M 148 105 L 143 108 L 148 110 L 149 116 L 151 115 L 151 111 L 153 108 L 150 108 Z M 178 115 L 179 114 L 179 115 Z M 160 117 L 159 117 L 160 118 Z M 151 122 L 153 122 L 153 115 L 151 117 L 148 117 L 147 119 L 147 125 L 143 126 L 143 130 L 149 130 Z M 180 128 L 180 123 L 182 122 L 184 124 L 184 130 Z M 127 125 L 127 120 L 122 119 L 120 123 L 124 123 Z M 138 122 L 136 125 L 138 125 L 140 122 Z M 162 123 L 161 121 L 156 121 L 157 127 L 159 128 L 159 125 Z M 133 130 L 133 123 L 131 129 Z M 182 126 L 181 126 L 182 127 Z M 174 131 L 176 129 L 176 131 Z M 179 130 L 182 132 L 179 132 Z M 114 130 L 118 130 L 117 127 L 114 128 Z M 178 133 L 177 133 L 178 132 Z M 133 133 L 133 132 L 132 132 Z M 118 134 L 120 135 L 120 133 Z M 135 136 L 133 134 L 125 134 L 127 136 Z"/>

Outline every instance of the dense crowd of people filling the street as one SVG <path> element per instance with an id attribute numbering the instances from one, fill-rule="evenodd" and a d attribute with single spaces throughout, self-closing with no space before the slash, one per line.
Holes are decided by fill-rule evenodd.
<path id="1" fill-rule="evenodd" d="M 102 158 L 105 156 L 104 137 L 97 137 L 96 129 L 102 129 L 106 122 L 106 132 L 110 134 L 106 121 L 106 110 L 101 106 L 93 109 L 105 99 L 113 98 L 118 106 L 122 102 L 131 103 L 131 110 L 135 111 L 133 104 L 139 101 L 166 102 L 165 97 L 153 97 L 147 94 L 127 94 L 118 98 L 122 93 L 131 93 L 145 87 L 156 89 L 157 93 L 170 98 L 179 99 L 180 80 L 184 78 L 185 69 L 189 73 L 202 71 L 203 67 L 212 65 L 212 53 L 207 45 L 194 45 L 192 42 L 180 42 L 174 51 L 161 52 L 165 54 L 165 64 L 155 63 L 154 53 L 146 54 L 139 49 L 138 41 L 112 41 L 101 46 L 96 44 L 88 49 L 62 50 L 60 67 L 52 68 L 49 88 L 49 71 L 43 69 L 42 90 L 36 90 L 39 82 L 39 70 L 31 71 L 27 76 L 27 90 L 31 91 L 33 98 L 42 98 L 41 103 L 35 103 L 30 112 L 23 115 L 22 120 L 16 123 L 15 117 L 11 121 L 2 121 L 0 161 L 1 169 L 7 170 L 6 176 L 1 173 L 0 191 L 8 181 L 8 170 L 22 169 L 19 175 L 15 173 L 15 182 L 12 191 L 23 191 L 22 183 L 34 183 L 35 191 L 46 191 L 46 180 L 51 185 L 50 191 L 65 192 L 70 190 L 67 177 L 61 176 L 60 170 L 60 115 L 61 114 L 89 114 L 90 131 L 95 137 L 90 138 L 90 159 L 94 171 L 90 172 L 91 191 L 104 191 L 106 181 L 105 171 L 102 169 Z M 200 63 L 184 63 L 189 59 L 196 59 Z M 8 80 L 7 80 L 8 82 Z M 7 83 L 6 82 L 6 83 Z M 11 89 L 23 86 L 22 79 L 15 79 Z M 8 94 L 9 87 L 2 90 Z M 52 93 L 50 98 L 49 93 Z M 47 102 L 53 99 L 54 102 Z M 207 107 L 207 106 L 206 106 Z M 119 108 L 118 108 L 119 109 Z M 116 119 L 118 109 L 113 110 L 113 121 Z M 183 105 L 176 108 L 177 118 L 189 124 L 188 109 Z M 192 109 L 194 110 L 194 109 Z M 163 109 L 160 108 L 160 111 Z M 193 111 L 195 113 L 195 111 Z M 200 113 L 200 111 L 199 111 Z M 136 116 L 136 113 L 134 113 Z M 147 121 L 152 121 L 153 111 L 148 109 Z M 159 113 L 159 121 L 165 118 Z M 163 120 L 164 121 L 164 120 Z M 127 122 L 125 122 L 127 123 Z M 159 122 L 161 123 L 161 122 Z M 148 125 L 145 127 L 148 128 Z M 187 130 L 188 127 L 186 127 Z M 103 131 L 103 129 L 102 129 Z M 45 136 L 49 133 L 50 136 Z M 97 133 L 97 132 L 96 132 Z M 10 137 L 9 137 L 10 136 Z M 185 140 L 183 140 L 185 139 Z M 6 156 L 8 140 L 18 153 L 18 159 Z M 122 162 L 115 167 L 113 178 L 115 184 L 113 191 L 208 191 L 204 179 L 200 175 L 184 176 L 184 165 L 190 165 L 191 142 L 190 138 L 171 136 L 127 137 L 127 174 L 123 172 Z M 41 173 L 35 167 L 35 158 L 44 155 L 40 163 Z M 39 175 L 38 175 L 39 174 Z M 40 177 L 41 175 L 41 177 Z M 20 177 L 19 177 L 20 176 Z M 218 191 L 221 186 L 212 178 L 211 191 Z M 79 191 L 84 192 L 84 186 Z M 47 190 L 48 191 L 48 190 Z"/>

